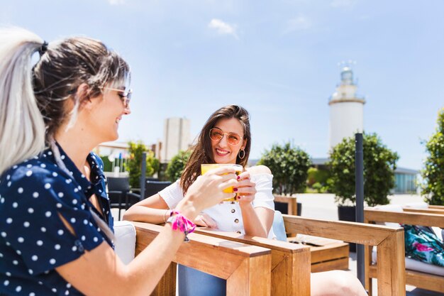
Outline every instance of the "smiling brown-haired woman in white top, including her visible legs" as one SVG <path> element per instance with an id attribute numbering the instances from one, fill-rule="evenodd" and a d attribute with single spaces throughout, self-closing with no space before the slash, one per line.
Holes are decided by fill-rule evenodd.
<path id="1" fill-rule="evenodd" d="M 201 174 L 201 164 L 231 163 L 244 168 L 250 155 L 250 116 L 241 106 L 215 111 L 201 130 L 182 177 L 169 187 L 133 205 L 124 219 L 162 223 Z M 274 238 L 274 197 L 269 168 L 257 165 L 238 176 L 237 202 L 223 202 L 201 212 L 194 223 L 221 231 Z M 225 280 L 179 265 L 179 296 L 223 296 Z M 199 284 L 196 284 L 199 283 Z M 343 270 L 311 274 L 312 296 L 367 295 L 359 280 Z"/>

